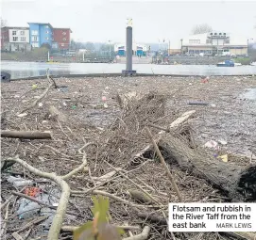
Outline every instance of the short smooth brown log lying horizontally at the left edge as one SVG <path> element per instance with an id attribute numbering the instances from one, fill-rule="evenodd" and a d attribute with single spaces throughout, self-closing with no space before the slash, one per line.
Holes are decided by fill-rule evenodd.
<path id="1" fill-rule="evenodd" d="M 23 138 L 23 139 L 51 139 L 51 132 L 37 132 L 37 131 L 1 131 L 2 137 Z"/>

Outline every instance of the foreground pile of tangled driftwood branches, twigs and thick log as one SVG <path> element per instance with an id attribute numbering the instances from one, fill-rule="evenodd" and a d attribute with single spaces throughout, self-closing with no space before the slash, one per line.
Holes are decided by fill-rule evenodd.
<path id="1" fill-rule="evenodd" d="M 47 79 L 48 86 L 35 101 L 20 104 L 16 112 L 7 105 L 1 116 L 3 176 L 21 175 L 38 183 L 41 178 L 49 187 L 57 184 L 61 189 L 58 206 L 38 202 L 56 210 L 47 239 L 70 238 L 77 226 L 91 220 L 92 195 L 110 198 L 111 221 L 126 230 L 126 240 L 220 239 L 219 232 L 168 232 L 168 202 L 256 201 L 256 166 L 225 163 L 196 146 L 188 123 L 196 111 L 167 115 L 168 99 L 157 92 L 117 94 L 121 114 L 108 128 L 81 128 L 72 115 L 52 103 L 38 110 L 50 94 L 61 94 L 56 81 L 48 74 Z M 29 127 L 21 129 L 17 119 Z M 35 226 L 46 217 L 35 216 L 15 226 L 17 198 L 35 199 L 24 189 L 12 189 L 4 177 L 1 234 L 34 238 Z M 226 232 L 221 237 L 255 236 Z"/>

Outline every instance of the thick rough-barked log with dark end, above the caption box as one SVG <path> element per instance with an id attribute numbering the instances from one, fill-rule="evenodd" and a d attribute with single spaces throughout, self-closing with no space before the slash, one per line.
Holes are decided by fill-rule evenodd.
<path id="1" fill-rule="evenodd" d="M 213 158 L 204 149 L 193 150 L 179 138 L 165 135 L 159 141 L 160 149 L 170 164 L 206 179 L 224 190 L 232 201 L 256 201 L 256 166 L 242 168 Z"/>

